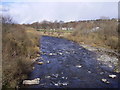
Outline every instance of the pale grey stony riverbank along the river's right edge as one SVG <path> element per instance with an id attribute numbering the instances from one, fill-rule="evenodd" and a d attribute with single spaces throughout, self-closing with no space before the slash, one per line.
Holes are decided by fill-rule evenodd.
<path id="1" fill-rule="evenodd" d="M 116 53 L 114 50 L 106 48 L 97 48 L 90 45 L 80 44 L 87 50 L 95 52 L 97 54 L 97 60 L 102 62 L 103 67 L 107 66 L 114 72 L 120 73 L 119 60 L 120 54 Z"/>

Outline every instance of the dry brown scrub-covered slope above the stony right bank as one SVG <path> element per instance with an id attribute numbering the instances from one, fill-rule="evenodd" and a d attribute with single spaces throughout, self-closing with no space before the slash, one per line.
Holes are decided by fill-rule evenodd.
<path id="1" fill-rule="evenodd" d="M 77 25 L 76 30 L 65 38 L 73 40 L 77 43 L 85 43 L 96 47 L 104 47 L 118 50 L 118 22 L 115 20 L 109 21 L 94 21 L 83 22 Z M 96 32 L 89 32 L 94 27 L 100 27 Z"/>

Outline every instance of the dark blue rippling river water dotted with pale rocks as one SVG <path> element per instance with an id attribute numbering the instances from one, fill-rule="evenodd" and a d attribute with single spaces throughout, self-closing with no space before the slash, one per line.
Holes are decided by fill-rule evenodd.
<path id="1" fill-rule="evenodd" d="M 28 88 L 117 88 L 118 75 L 101 68 L 96 53 L 82 46 L 55 37 L 40 39 L 42 65 L 35 64 L 29 79 L 40 78 L 38 85 Z M 115 74 L 116 78 L 109 75 Z M 109 83 L 103 82 L 106 79 Z"/>

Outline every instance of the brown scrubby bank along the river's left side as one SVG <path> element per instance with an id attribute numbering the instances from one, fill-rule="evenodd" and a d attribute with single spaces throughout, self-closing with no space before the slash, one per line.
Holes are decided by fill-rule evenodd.
<path id="1" fill-rule="evenodd" d="M 39 52 L 39 35 L 31 28 L 17 24 L 2 26 L 3 88 L 15 88 L 27 78 Z"/>

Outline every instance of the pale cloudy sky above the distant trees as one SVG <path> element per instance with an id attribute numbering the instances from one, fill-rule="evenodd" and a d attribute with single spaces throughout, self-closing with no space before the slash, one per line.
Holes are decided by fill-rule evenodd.
<path id="1" fill-rule="evenodd" d="M 42 20 L 90 20 L 99 19 L 101 16 L 118 18 L 118 2 L 77 2 L 76 0 L 75 2 L 35 2 L 35 0 L 29 0 L 29 2 L 18 0 L 16 2 L 15 0 L 3 0 L 0 9 L 3 14 L 9 14 L 21 24 Z"/>

